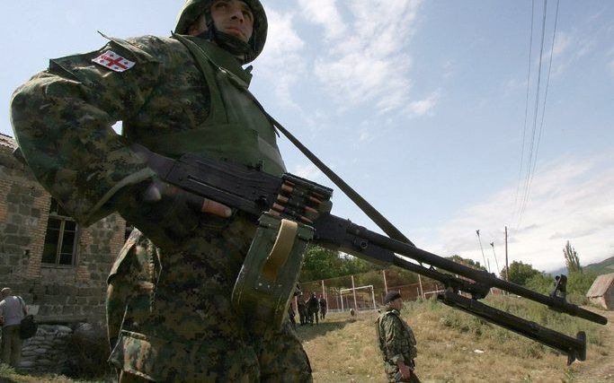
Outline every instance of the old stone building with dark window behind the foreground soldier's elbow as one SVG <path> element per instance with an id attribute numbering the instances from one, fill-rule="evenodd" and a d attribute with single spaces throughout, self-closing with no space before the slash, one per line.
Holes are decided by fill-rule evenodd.
<path id="1" fill-rule="evenodd" d="M 125 240 L 112 214 L 80 227 L 13 157 L 0 135 L 0 285 L 21 295 L 40 322 L 104 322 L 106 277 Z"/>

